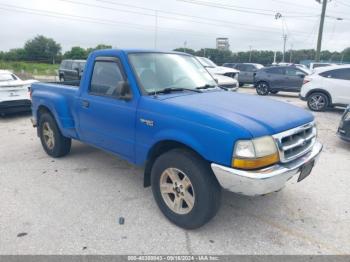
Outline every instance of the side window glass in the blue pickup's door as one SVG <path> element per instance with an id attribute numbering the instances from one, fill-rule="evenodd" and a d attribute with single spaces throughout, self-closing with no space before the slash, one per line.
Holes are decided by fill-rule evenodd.
<path id="1" fill-rule="evenodd" d="M 119 97 L 124 81 L 119 63 L 96 61 L 89 91 L 93 95 Z"/>

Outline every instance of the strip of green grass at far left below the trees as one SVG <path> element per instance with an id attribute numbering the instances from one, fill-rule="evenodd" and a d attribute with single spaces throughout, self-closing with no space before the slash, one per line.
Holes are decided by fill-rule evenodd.
<path id="1" fill-rule="evenodd" d="M 55 76 L 59 64 L 0 61 L 0 69 L 11 70 L 15 74 Z"/>

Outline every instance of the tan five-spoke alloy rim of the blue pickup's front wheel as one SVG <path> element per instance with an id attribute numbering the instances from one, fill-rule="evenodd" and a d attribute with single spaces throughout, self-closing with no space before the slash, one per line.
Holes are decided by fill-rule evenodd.
<path id="1" fill-rule="evenodd" d="M 187 214 L 194 206 L 191 180 L 176 168 L 167 168 L 160 176 L 160 193 L 166 205 L 177 214 Z"/>

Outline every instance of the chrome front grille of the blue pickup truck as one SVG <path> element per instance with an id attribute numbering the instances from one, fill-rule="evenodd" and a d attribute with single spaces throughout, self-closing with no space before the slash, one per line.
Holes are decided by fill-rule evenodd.
<path id="1" fill-rule="evenodd" d="M 314 122 L 274 135 L 281 162 L 290 162 L 309 152 L 316 141 Z"/>

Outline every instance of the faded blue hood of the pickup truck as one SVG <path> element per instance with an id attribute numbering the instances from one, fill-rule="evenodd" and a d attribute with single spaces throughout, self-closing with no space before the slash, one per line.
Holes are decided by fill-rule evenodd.
<path id="1" fill-rule="evenodd" d="M 280 133 L 314 119 L 311 113 L 288 103 L 225 91 L 170 96 L 166 102 L 238 125 L 252 137 Z"/>

